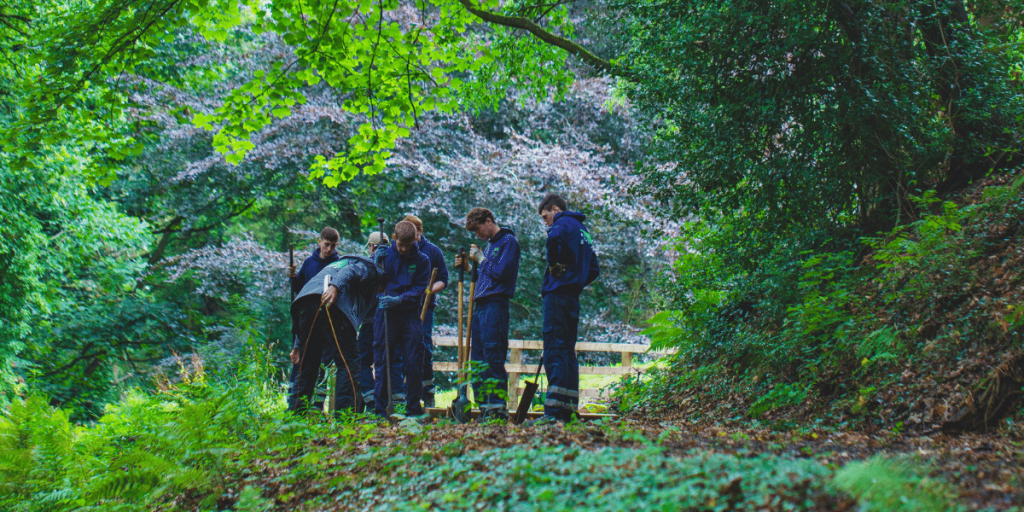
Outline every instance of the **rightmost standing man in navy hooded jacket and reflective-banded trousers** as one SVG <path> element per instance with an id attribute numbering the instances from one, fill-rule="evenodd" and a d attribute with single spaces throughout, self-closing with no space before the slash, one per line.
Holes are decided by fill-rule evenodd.
<path id="1" fill-rule="evenodd" d="M 548 226 L 541 295 L 544 300 L 544 371 L 548 395 L 537 424 L 572 419 L 580 403 L 580 364 L 575 356 L 580 293 L 600 273 L 586 216 L 570 212 L 565 200 L 549 194 L 537 212 Z"/>

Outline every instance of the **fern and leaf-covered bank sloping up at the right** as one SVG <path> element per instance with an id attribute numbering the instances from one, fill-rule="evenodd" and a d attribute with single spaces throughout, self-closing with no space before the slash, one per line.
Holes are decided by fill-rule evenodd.
<path id="1" fill-rule="evenodd" d="M 670 307 L 645 331 L 677 355 L 617 383 L 621 410 L 706 416 L 692 397 L 728 400 L 731 417 L 751 421 L 829 412 L 840 426 L 899 430 L 950 420 L 946 408 L 911 406 L 936 401 L 925 393 L 970 403 L 988 377 L 973 369 L 1024 348 L 1022 186 L 1018 173 L 959 198 L 927 193 L 913 199 L 919 217 L 887 233 L 795 240 L 753 267 L 725 256 L 728 226 L 689 226 L 662 285 Z M 965 380 L 950 383 L 955 368 Z"/>

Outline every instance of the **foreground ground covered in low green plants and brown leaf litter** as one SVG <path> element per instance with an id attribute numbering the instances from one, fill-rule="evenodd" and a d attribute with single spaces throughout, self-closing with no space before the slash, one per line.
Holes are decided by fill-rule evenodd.
<path id="1" fill-rule="evenodd" d="M 344 429 L 340 436 L 314 439 L 297 455 L 268 454 L 257 461 L 238 475 L 218 505 L 237 510 L 1024 506 L 1024 443 L 1005 435 L 779 432 L 667 418 L 543 427 L 408 421 L 366 425 L 366 435 L 354 437 L 351 426 L 338 428 Z M 188 502 L 182 497 L 173 506 Z"/>

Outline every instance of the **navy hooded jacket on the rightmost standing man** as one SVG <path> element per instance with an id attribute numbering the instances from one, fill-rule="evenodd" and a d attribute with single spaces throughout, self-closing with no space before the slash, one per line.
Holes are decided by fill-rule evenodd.
<path id="1" fill-rule="evenodd" d="M 547 255 L 549 270 L 544 273 L 541 295 L 567 293 L 580 295 L 601 273 L 594 253 L 594 241 L 583 225 L 587 216 L 577 212 L 558 212 L 548 228 Z M 550 266 L 565 265 L 560 278 L 551 274 Z"/>

